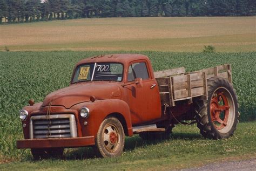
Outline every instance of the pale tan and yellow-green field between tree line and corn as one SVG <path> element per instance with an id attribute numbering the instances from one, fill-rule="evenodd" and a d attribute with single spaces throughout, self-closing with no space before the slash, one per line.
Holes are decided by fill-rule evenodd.
<path id="1" fill-rule="evenodd" d="M 0 51 L 256 51 L 256 17 L 86 18 L 0 25 Z"/>

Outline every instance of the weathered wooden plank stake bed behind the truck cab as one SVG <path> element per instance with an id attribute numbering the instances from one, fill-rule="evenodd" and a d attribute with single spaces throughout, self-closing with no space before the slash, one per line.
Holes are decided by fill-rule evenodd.
<path id="1" fill-rule="evenodd" d="M 231 65 L 219 65 L 209 69 L 185 72 L 184 67 L 154 72 L 157 80 L 161 105 L 175 106 L 179 100 L 190 100 L 204 96 L 207 99 L 207 79 L 222 77 L 232 84 Z"/>

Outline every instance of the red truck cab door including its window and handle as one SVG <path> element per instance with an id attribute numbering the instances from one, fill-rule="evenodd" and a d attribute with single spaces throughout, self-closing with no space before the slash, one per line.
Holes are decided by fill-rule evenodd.
<path id="1" fill-rule="evenodd" d="M 142 124 L 161 117 L 161 104 L 156 79 L 149 74 L 146 61 L 137 61 L 129 66 L 126 91 L 129 97 L 132 124 Z M 136 78 L 141 78 L 138 83 Z M 137 79 L 138 80 L 138 79 Z"/>

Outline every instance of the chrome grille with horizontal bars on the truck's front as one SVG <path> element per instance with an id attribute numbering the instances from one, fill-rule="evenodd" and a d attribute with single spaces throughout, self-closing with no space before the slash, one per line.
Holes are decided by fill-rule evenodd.
<path id="1" fill-rule="evenodd" d="M 40 115 L 30 120 L 30 139 L 77 137 L 73 114 Z"/>

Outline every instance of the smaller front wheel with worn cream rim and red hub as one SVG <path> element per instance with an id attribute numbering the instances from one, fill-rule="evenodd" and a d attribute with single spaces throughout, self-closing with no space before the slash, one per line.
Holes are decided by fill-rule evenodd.
<path id="1" fill-rule="evenodd" d="M 95 150 L 104 158 L 119 156 L 124 149 L 124 129 L 117 118 L 106 118 L 99 126 Z"/>

